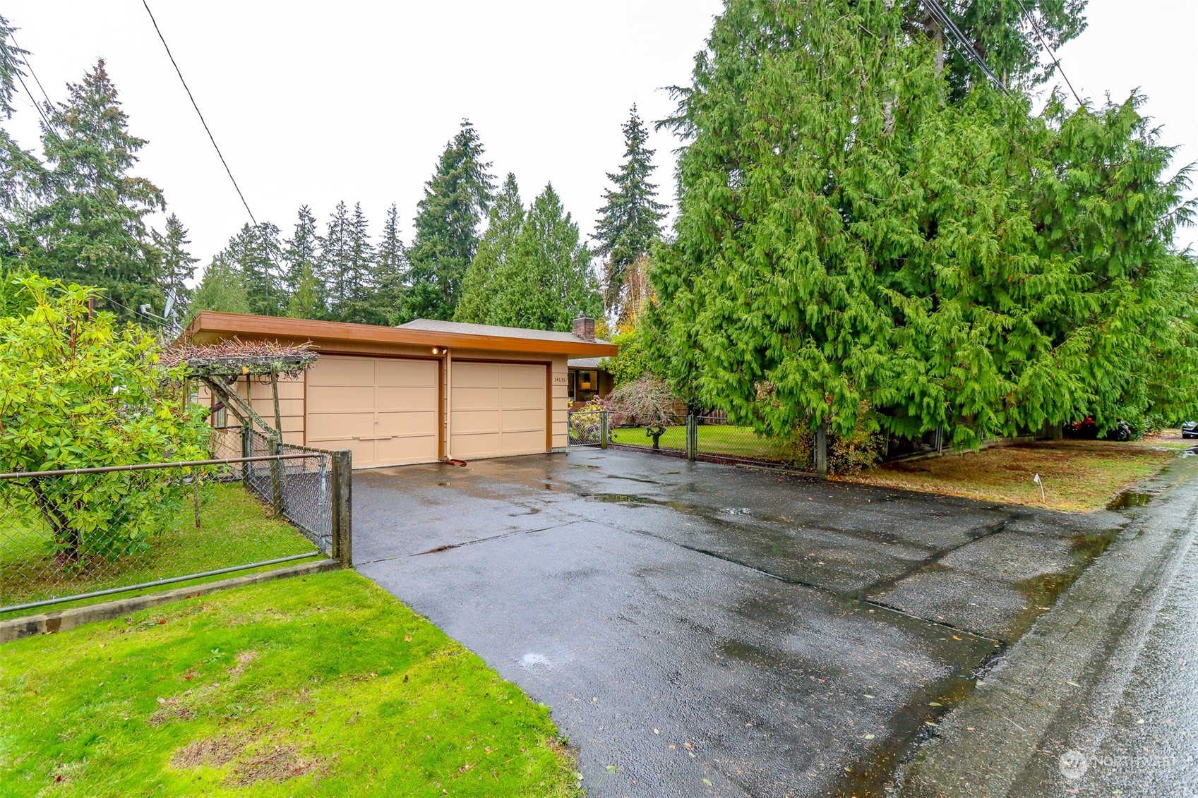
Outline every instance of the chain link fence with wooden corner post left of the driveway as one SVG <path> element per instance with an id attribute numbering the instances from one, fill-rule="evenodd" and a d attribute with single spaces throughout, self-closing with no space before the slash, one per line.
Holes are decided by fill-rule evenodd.
<path id="1" fill-rule="evenodd" d="M 349 562 L 349 453 L 255 435 L 213 435 L 214 453 L 236 439 L 249 457 L 0 474 L 0 617 L 309 557 Z"/>

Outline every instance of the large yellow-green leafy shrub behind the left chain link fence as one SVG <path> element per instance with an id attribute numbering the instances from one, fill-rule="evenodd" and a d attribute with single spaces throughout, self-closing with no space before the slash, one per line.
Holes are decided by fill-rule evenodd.
<path id="1" fill-rule="evenodd" d="M 152 335 L 109 313 L 89 319 L 91 289 L 23 280 L 36 302 L 0 319 L 0 470 L 50 471 L 206 457 L 202 409 L 182 407 Z M 4 498 L 38 513 L 58 557 L 77 563 L 145 545 L 182 502 L 179 480 L 128 490 L 121 473 L 5 480 Z"/>

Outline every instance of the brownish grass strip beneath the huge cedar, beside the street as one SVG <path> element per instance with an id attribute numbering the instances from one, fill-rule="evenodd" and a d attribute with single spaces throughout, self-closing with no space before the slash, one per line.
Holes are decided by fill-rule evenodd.
<path id="1" fill-rule="evenodd" d="M 1139 442 L 1043 441 L 894 463 L 842 479 L 1089 512 L 1106 507 L 1121 491 L 1155 474 L 1176 457 L 1176 449 Z M 1042 495 L 1033 480 L 1037 473 Z"/>

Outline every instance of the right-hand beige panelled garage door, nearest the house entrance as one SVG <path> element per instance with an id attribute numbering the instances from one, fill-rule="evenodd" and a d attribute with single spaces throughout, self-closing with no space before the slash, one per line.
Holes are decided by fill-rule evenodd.
<path id="1" fill-rule="evenodd" d="M 462 363 L 449 371 L 449 453 L 494 458 L 545 451 L 545 365 Z"/>

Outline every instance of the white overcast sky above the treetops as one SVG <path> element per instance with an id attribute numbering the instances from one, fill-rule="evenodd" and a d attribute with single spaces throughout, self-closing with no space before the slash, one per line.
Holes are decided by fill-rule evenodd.
<path id="1" fill-rule="evenodd" d="M 688 81 L 716 0 L 576 2 L 265 2 L 150 0 L 158 24 L 258 219 L 290 235 L 300 205 L 327 218 L 361 201 L 377 234 L 398 202 L 411 238 L 424 182 L 462 117 L 492 171 L 525 202 L 546 182 L 588 235 L 623 155 L 635 102 L 668 114 L 662 86 Z M 140 0 L 7 0 L 2 13 L 50 98 L 104 58 L 131 131 L 149 140 L 138 174 L 165 193 L 207 260 L 247 214 Z M 1178 163 L 1198 159 L 1198 2 L 1091 0 L 1089 29 L 1059 56 L 1083 97 L 1146 93 Z M 32 84 L 30 84 L 32 87 Z M 36 91 L 36 89 L 34 89 Z M 17 102 L 10 129 L 37 146 Z M 662 198 L 677 141 L 653 133 Z M 40 151 L 40 150 L 38 150 Z M 1182 234 L 1198 241 L 1198 231 Z"/>

